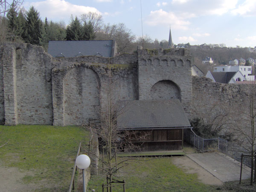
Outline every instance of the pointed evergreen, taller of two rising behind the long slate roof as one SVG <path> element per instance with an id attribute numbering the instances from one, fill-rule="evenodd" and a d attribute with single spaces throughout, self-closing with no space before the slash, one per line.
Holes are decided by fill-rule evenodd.
<path id="1" fill-rule="evenodd" d="M 84 39 L 83 26 L 81 25 L 79 19 L 76 17 L 75 20 L 72 19 L 69 26 L 67 26 L 67 41 L 79 41 Z"/>

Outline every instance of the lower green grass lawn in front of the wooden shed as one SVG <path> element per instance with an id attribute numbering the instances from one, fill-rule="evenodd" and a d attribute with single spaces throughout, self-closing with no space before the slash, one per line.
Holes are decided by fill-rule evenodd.
<path id="1" fill-rule="evenodd" d="M 122 160 L 119 157 L 119 160 Z M 198 181 L 196 174 L 185 173 L 172 164 L 172 157 L 138 157 L 137 162 L 129 162 L 116 178 L 125 180 L 127 192 L 211 192 L 218 186 L 205 185 Z M 93 175 L 87 191 L 102 191 L 105 176 Z M 105 190 L 106 191 L 106 190 Z M 121 192 L 122 187 L 114 187 L 114 192 Z"/>

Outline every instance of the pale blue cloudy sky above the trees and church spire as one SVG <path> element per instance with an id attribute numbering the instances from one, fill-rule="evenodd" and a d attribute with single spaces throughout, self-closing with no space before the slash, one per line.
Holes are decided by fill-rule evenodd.
<path id="1" fill-rule="evenodd" d="M 256 0 L 24 0 L 23 6 L 66 25 L 71 15 L 96 12 L 137 37 L 143 26 L 143 35 L 158 41 L 168 41 L 171 28 L 174 44 L 256 46 Z"/>

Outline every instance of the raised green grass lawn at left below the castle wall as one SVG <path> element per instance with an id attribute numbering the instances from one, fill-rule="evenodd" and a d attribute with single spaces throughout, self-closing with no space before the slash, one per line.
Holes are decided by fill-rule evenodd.
<path id="1" fill-rule="evenodd" d="M 24 183 L 38 183 L 38 191 L 67 191 L 80 141 L 89 132 L 76 126 L 0 126 L 1 166 L 17 167 Z M 32 174 L 31 174 L 32 173 Z"/>

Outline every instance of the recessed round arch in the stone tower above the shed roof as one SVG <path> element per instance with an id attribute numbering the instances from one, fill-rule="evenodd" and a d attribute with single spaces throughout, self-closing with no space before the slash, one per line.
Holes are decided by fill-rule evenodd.
<path id="1" fill-rule="evenodd" d="M 180 99 L 180 87 L 170 80 L 155 83 L 150 90 L 151 99 Z"/>

